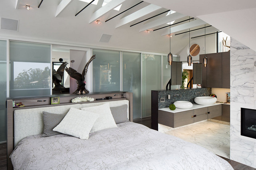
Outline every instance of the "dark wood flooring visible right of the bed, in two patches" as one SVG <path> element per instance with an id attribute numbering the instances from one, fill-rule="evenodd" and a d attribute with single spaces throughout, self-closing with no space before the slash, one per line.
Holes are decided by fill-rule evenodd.
<path id="1" fill-rule="evenodd" d="M 142 119 L 135 119 L 135 120 L 133 120 L 133 122 L 139 123 L 139 124 L 142 124 L 142 125 L 145 125 L 145 126 L 151 128 L 151 117 L 142 118 Z M 228 163 L 234 168 L 234 170 L 256 170 L 255 168 L 252 168 L 252 167 L 247 166 L 245 164 L 241 164 L 241 163 L 236 162 L 234 160 L 230 160 L 230 159 L 224 158 L 222 156 L 220 156 L 220 157 L 222 159 L 225 159 L 226 161 L 228 161 Z"/>

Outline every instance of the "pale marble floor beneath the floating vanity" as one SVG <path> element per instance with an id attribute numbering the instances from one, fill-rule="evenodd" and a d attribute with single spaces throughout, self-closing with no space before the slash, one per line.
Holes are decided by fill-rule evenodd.
<path id="1" fill-rule="evenodd" d="M 161 132 L 203 146 L 217 155 L 230 158 L 230 125 L 205 120 Z"/>

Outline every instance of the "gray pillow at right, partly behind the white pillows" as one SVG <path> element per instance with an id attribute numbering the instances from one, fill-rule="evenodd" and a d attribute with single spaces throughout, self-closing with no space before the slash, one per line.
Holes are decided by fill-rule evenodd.
<path id="1" fill-rule="evenodd" d="M 112 116 L 116 122 L 123 123 L 123 122 L 130 122 L 127 118 L 127 105 L 117 106 L 117 107 L 110 107 Z"/>

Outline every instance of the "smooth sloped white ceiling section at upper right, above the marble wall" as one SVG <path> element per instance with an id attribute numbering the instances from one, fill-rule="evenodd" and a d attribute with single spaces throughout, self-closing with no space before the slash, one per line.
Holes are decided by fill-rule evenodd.
<path id="1" fill-rule="evenodd" d="M 255 0 L 145 0 L 181 14 L 198 17 L 256 51 Z"/>

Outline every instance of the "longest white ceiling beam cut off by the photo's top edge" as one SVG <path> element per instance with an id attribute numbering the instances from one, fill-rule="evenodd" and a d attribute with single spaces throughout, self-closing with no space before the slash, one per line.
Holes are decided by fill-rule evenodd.
<path id="1" fill-rule="evenodd" d="M 118 5 L 122 4 L 123 2 L 125 2 L 125 0 L 112 0 L 109 3 L 107 3 L 106 5 L 102 6 L 100 9 L 98 9 L 97 11 L 95 11 L 92 14 L 89 24 L 92 23 L 93 21 L 97 20 L 99 17 L 106 14 L 110 10 L 114 9 Z"/>

